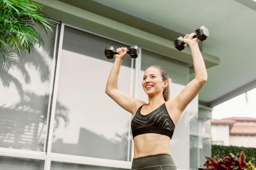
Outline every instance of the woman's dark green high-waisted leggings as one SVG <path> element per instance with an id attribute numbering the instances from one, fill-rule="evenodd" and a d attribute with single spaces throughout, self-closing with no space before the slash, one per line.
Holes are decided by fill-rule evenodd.
<path id="1" fill-rule="evenodd" d="M 169 154 L 147 155 L 133 158 L 131 170 L 177 170 L 174 160 Z"/>

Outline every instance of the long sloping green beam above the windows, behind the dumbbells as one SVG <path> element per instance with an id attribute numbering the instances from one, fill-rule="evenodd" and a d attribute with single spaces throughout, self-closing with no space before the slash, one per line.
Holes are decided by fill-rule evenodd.
<path id="1" fill-rule="evenodd" d="M 167 58 L 173 58 L 188 64 L 193 64 L 189 48 L 178 51 L 174 47 L 173 39 L 162 37 L 159 33 L 166 32 L 166 29 L 158 28 L 157 30 L 142 30 L 137 25 L 131 26 L 129 23 L 122 23 L 118 18 L 108 18 L 102 13 L 90 12 L 60 1 L 36 0 L 43 5 L 42 10 L 51 18 L 69 23 L 81 29 L 86 29 L 94 33 L 104 35 L 129 44 L 136 44 L 144 49 L 151 49 L 165 55 Z M 122 12 L 120 11 L 120 15 Z M 116 19 L 116 20 L 114 20 Z M 133 22 L 132 19 L 129 19 Z M 145 22 L 145 21 L 144 21 Z M 153 26 L 152 23 L 146 23 Z M 172 33 L 176 36 L 177 33 Z M 172 38 L 172 37 L 169 37 Z M 206 67 L 219 64 L 219 58 L 202 52 Z"/>

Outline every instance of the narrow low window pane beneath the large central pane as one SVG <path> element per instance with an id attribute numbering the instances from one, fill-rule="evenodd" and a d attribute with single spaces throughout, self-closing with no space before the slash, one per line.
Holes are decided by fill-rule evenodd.
<path id="1" fill-rule="evenodd" d="M 51 162 L 51 170 L 125 170 L 124 168 L 108 167 L 108 166 L 95 166 L 84 165 L 76 163 L 65 162 Z"/>

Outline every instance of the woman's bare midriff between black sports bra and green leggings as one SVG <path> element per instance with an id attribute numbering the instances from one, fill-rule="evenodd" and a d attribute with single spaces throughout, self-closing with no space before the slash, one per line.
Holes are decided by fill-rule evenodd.
<path id="1" fill-rule="evenodd" d="M 134 137 L 134 158 L 170 154 L 170 138 L 157 133 L 144 133 Z"/>

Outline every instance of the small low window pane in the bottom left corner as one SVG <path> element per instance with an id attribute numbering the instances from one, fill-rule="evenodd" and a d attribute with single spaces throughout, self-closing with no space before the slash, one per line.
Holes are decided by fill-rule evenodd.
<path id="1" fill-rule="evenodd" d="M 44 170 L 44 160 L 0 157 L 0 170 Z"/>

